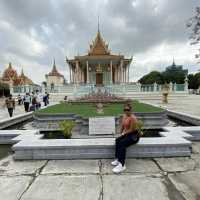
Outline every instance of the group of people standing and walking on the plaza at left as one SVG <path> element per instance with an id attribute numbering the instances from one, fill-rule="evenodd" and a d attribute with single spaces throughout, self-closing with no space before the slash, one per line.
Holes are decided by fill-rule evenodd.
<path id="1" fill-rule="evenodd" d="M 23 97 L 19 94 L 17 97 L 18 105 L 24 104 L 25 112 L 35 111 L 41 108 L 41 102 L 43 101 L 44 106 L 49 104 L 49 94 L 46 92 L 44 95 L 41 95 L 39 91 L 26 93 Z M 8 109 L 9 116 L 13 116 L 13 111 L 15 109 L 15 99 L 10 94 L 9 97 L 5 100 L 5 105 Z"/>

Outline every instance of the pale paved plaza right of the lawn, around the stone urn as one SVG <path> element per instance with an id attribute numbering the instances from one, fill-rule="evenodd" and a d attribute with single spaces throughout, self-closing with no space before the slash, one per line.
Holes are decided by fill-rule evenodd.
<path id="1" fill-rule="evenodd" d="M 169 100 L 168 104 L 163 104 L 161 100 L 145 100 L 143 102 L 152 103 L 157 106 L 183 112 L 200 117 L 200 95 L 188 95 L 182 98 Z"/>

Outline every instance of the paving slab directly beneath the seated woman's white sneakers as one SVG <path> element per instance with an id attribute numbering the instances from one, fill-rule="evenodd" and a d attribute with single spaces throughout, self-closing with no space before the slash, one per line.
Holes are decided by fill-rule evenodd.
<path id="1" fill-rule="evenodd" d="M 113 166 L 110 164 L 111 159 L 101 160 L 103 174 L 113 174 Z M 160 173 L 160 169 L 150 159 L 127 159 L 126 160 L 126 171 L 124 173 Z"/>

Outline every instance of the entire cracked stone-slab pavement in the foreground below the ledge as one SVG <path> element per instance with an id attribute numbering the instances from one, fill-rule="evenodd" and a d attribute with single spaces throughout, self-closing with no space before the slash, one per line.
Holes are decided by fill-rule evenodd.
<path id="1" fill-rule="evenodd" d="M 5 200 L 199 200 L 200 143 L 191 158 L 128 159 L 121 175 L 111 160 L 0 161 Z"/>

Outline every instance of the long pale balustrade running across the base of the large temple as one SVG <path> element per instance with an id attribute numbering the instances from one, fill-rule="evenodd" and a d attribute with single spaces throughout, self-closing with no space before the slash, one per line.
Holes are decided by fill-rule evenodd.
<path id="1" fill-rule="evenodd" d="M 179 93 L 185 92 L 188 93 L 188 84 L 176 84 L 176 83 L 169 83 L 169 92 Z M 33 86 L 20 86 L 20 87 L 12 87 L 11 93 L 14 94 L 21 94 L 26 92 L 35 91 L 38 88 Z M 61 85 L 61 86 L 54 86 L 54 87 L 42 87 L 40 90 L 42 93 L 55 93 L 55 94 L 66 94 L 66 95 L 73 95 L 74 97 L 84 96 L 86 94 L 90 94 L 93 92 L 107 92 L 115 95 L 124 95 L 124 94 L 131 94 L 131 93 L 161 93 L 162 92 L 162 85 L 157 83 L 154 84 L 140 84 L 140 83 L 122 83 L 122 84 L 109 84 L 104 86 L 95 86 L 94 84 L 69 84 L 69 85 Z"/>

